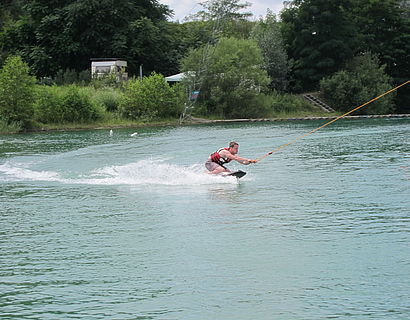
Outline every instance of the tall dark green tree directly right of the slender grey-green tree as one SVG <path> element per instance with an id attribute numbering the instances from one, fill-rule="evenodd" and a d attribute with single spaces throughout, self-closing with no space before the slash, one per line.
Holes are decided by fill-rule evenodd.
<path id="1" fill-rule="evenodd" d="M 289 57 L 294 60 L 295 90 L 315 89 L 355 53 L 356 30 L 346 0 L 295 0 L 281 13 Z"/>

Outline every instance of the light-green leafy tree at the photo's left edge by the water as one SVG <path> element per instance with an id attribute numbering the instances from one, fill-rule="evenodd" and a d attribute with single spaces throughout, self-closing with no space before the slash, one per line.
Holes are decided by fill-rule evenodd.
<path id="1" fill-rule="evenodd" d="M 36 79 L 21 57 L 10 56 L 0 70 L 0 117 L 9 122 L 30 125 Z"/>

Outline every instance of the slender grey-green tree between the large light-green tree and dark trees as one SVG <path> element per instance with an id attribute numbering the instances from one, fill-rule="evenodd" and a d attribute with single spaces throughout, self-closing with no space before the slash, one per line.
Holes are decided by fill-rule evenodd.
<path id="1" fill-rule="evenodd" d="M 289 84 L 290 67 L 283 45 L 276 16 L 268 10 L 265 19 L 260 19 L 252 31 L 263 55 L 263 68 L 271 78 L 269 87 L 285 91 Z"/>

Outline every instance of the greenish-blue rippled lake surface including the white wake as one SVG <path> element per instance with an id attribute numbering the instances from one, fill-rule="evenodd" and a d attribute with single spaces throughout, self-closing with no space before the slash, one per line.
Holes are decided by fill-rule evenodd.
<path id="1" fill-rule="evenodd" d="M 410 319 L 410 119 L 204 173 L 323 123 L 0 136 L 0 318 Z"/>

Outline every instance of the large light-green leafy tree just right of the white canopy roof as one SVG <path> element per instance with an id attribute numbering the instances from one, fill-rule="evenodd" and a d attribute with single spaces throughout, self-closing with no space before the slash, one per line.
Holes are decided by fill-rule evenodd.
<path id="1" fill-rule="evenodd" d="M 190 51 L 182 62 L 183 70 L 201 70 L 204 50 Z M 207 72 L 202 74 L 198 102 L 205 106 L 205 113 L 226 118 L 264 115 L 267 101 L 262 93 L 269 78 L 262 64 L 256 42 L 222 38 L 211 48 Z"/>

